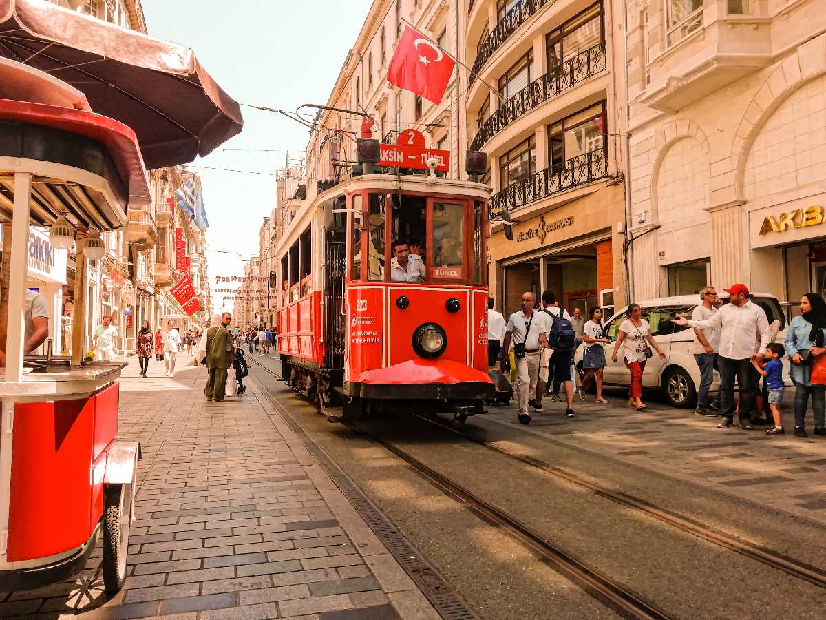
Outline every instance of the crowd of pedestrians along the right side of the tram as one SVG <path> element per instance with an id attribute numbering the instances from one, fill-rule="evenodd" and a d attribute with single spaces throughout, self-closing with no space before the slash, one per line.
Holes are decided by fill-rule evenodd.
<path id="1" fill-rule="evenodd" d="M 787 378 L 794 386 L 794 435 L 806 437 L 805 417 L 811 401 L 814 434 L 826 436 L 826 302 L 818 293 L 806 293 L 800 300 L 800 314 L 792 318 L 785 341 L 777 342 L 780 322 L 769 322 L 766 311 L 745 284 L 729 289 L 728 303 L 722 303 L 714 287 L 700 290 L 699 303 L 691 318 L 670 317 L 676 326 L 693 330 L 694 355 L 700 384 L 695 413 L 721 419 L 717 427 L 750 430 L 765 426 L 767 435 L 785 435 L 781 419 L 786 391 L 783 358 L 788 358 Z M 522 295 L 521 309 L 507 319 L 488 298 L 488 365 L 498 362 L 501 375 L 511 371 L 517 418 L 531 421 L 530 413 L 543 411 L 544 398 L 565 403 L 564 415 L 575 417 L 575 394 L 586 400 L 594 389 L 596 403 L 608 403 L 603 396 L 603 374 L 607 365 L 605 346 L 613 340 L 603 327 L 601 308 L 581 308 L 572 313 L 560 308 L 555 295 L 545 291 L 537 299 L 532 292 Z M 660 323 L 662 326 L 662 322 Z M 616 322 L 614 323 L 616 325 Z M 662 327 L 660 327 L 662 330 Z M 612 333 L 614 333 L 612 328 Z M 582 383 L 573 366 L 582 346 Z M 643 372 L 654 355 L 666 360 L 653 336 L 646 313 L 637 303 L 629 304 L 615 333 L 610 360 L 629 371 L 629 408 L 643 411 Z M 512 360 L 512 361 L 511 361 Z M 719 391 L 711 392 L 714 371 L 719 374 Z M 491 370 L 491 376 L 496 370 Z M 762 385 L 761 385 L 762 379 Z M 738 398 L 735 398 L 735 389 Z M 713 398 L 714 397 L 714 398 Z"/>

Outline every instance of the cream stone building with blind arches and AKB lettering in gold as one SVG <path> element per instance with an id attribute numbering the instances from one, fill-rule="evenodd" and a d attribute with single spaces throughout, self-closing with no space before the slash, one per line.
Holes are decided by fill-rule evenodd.
<path id="1" fill-rule="evenodd" d="M 634 297 L 826 287 L 826 12 L 628 2 Z"/>

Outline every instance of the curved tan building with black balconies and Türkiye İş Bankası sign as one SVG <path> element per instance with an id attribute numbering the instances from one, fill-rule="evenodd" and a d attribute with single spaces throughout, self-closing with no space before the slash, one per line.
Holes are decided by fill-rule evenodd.
<path id="1" fill-rule="evenodd" d="M 462 125 L 488 157 L 491 295 L 506 312 L 525 291 L 584 314 L 623 303 L 622 3 L 475 0 L 463 14 Z"/>

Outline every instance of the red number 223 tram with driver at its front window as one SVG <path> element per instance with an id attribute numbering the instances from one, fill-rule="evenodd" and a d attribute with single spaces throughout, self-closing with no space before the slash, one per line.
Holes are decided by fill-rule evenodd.
<path id="1" fill-rule="evenodd" d="M 322 408 L 340 402 L 344 417 L 402 399 L 461 420 L 481 412 L 494 391 L 489 193 L 432 173 L 362 174 L 307 201 L 277 250 L 289 384 Z"/>

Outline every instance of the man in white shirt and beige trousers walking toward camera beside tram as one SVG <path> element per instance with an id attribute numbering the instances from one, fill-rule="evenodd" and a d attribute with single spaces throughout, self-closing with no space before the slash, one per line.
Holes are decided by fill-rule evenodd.
<path id="1" fill-rule="evenodd" d="M 517 417 L 522 424 L 530 423 L 528 415 L 528 397 L 536 392 L 539 379 L 539 359 L 543 349 L 548 348 L 548 315 L 534 310 L 536 296 L 528 291 L 522 295 L 522 310 L 514 312 L 508 318 L 505 327 L 505 344 L 500 355 L 501 370 L 506 370 L 506 359 L 510 351 L 510 342 L 524 346 L 525 355 L 516 357 L 516 399 Z M 514 346 L 514 349 L 517 347 Z M 533 400 L 533 399 L 531 399 Z"/>

